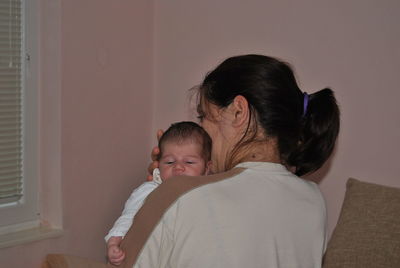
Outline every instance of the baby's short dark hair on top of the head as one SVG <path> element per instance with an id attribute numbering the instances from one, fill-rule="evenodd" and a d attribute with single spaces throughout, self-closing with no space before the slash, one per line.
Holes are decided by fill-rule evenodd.
<path id="1" fill-rule="evenodd" d="M 163 154 L 163 145 L 166 142 L 177 142 L 181 143 L 184 141 L 192 141 L 201 145 L 201 155 L 205 161 L 211 160 L 211 138 L 208 133 L 198 124 L 190 121 L 182 121 L 173 123 L 161 136 L 158 141 L 158 148 L 160 148 L 160 154 L 158 160 Z"/>

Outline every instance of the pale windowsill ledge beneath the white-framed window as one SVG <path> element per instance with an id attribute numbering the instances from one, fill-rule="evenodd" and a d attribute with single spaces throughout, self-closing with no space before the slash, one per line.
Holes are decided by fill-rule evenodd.
<path id="1" fill-rule="evenodd" d="M 12 247 L 48 238 L 56 238 L 62 236 L 63 233 L 64 231 L 62 229 L 37 227 L 14 233 L 3 234 L 0 235 L 0 248 Z"/>

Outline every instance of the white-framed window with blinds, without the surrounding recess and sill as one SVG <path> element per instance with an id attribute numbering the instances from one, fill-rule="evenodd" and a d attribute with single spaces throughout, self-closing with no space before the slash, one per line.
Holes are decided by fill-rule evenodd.
<path id="1" fill-rule="evenodd" d="M 35 2 L 0 0 L 0 234 L 39 226 Z"/>

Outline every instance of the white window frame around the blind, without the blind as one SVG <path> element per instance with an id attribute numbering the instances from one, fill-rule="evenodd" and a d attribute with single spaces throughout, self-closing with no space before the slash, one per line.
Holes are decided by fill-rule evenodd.
<path id="1" fill-rule="evenodd" d="M 20 200 L 0 207 L 0 234 L 39 227 L 37 1 L 21 1 L 22 183 Z"/>

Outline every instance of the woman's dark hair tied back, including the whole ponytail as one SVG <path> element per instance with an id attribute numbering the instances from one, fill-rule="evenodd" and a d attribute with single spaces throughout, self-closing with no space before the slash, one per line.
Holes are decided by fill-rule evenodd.
<path id="1" fill-rule="evenodd" d="M 303 93 L 285 62 L 263 55 L 228 58 L 206 75 L 199 93 L 200 106 L 204 102 L 220 108 L 238 95 L 245 97 L 250 121 L 258 123 L 254 127 L 260 125 L 267 138 L 277 139 L 281 161 L 294 167 L 298 176 L 319 169 L 333 151 L 340 125 L 333 91 Z M 231 161 L 240 147 L 256 139 L 257 129 L 250 129 L 250 121 Z"/>

